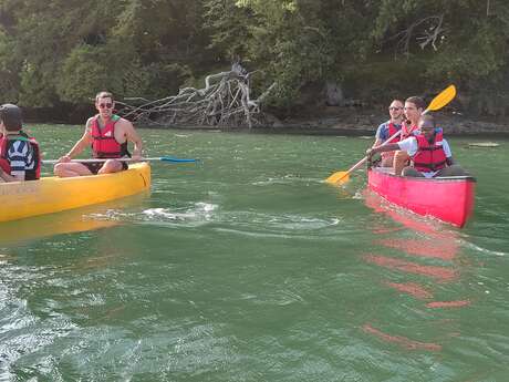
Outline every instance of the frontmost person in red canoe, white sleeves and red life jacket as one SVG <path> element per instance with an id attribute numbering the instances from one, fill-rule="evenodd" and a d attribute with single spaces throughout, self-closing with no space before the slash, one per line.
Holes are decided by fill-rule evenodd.
<path id="1" fill-rule="evenodd" d="M 403 168 L 403 176 L 413 177 L 443 177 L 468 175 L 461 166 L 453 159 L 450 147 L 443 138 L 442 128 L 437 128 L 432 115 L 422 115 L 417 128 L 419 133 L 397 143 L 368 148 L 368 157 L 376 153 L 399 149 L 412 159 L 412 166 Z"/>

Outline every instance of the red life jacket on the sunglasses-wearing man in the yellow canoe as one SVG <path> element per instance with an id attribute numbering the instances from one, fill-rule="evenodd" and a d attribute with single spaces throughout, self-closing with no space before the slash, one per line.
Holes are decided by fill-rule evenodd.
<path id="1" fill-rule="evenodd" d="M 121 117 L 112 115 L 103 128 L 98 124 L 98 114 L 92 121 L 92 152 L 94 158 L 120 158 L 128 155 L 127 142 L 120 144 L 115 140 L 115 124 Z"/>

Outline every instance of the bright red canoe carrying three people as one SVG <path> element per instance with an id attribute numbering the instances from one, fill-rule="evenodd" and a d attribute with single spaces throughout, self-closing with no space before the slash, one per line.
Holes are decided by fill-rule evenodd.
<path id="1" fill-rule="evenodd" d="M 458 227 L 474 210 L 476 179 L 471 176 L 401 177 L 373 167 L 367 171 L 367 185 L 395 205 Z"/>

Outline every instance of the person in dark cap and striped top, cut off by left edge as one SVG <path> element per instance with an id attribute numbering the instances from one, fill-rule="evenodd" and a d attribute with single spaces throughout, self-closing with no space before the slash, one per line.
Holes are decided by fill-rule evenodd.
<path id="1" fill-rule="evenodd" d="M 22 131 L 21 109 L 0 106 L 0 183 L 37 180 L 41 174 L 39 144 Z"/>

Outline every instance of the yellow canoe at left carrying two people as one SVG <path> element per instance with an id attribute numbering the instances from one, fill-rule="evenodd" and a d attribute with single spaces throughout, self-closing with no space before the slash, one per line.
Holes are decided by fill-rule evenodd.
<path id="1" fill-rule="evenodd" d="M 100 204 L 138 194 L 150 187 L 148 163 L 105 175 L 0 184 L 0 221 L 21 219 Z"/>

